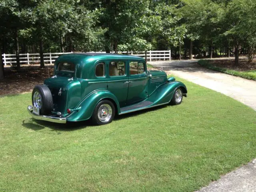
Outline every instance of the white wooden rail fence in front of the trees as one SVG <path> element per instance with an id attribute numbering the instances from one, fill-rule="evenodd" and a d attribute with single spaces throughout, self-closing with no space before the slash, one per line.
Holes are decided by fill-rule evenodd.
<path id="1" fill-rule="evenodd" d="M 66 53 L 44 53 L 44 62 L 52 64 L 55 61 L 55 58 L 62 54 L 68 54 L 72 52 Z M 94 52 L 93 52 L 94 53 Z M 96 53 L 106 53 L 106 52 L 96 52 Z M 127 54 L 127 52 L 118 52 L 120 54 Z M 145 58 L 145 53 L 133 54 L 132 52 L 128 52 L 130 55 L 139 56 Z M 40 54 L 39 53 L 25 53 L 19 54 L 20 56 L 20 64 L 37 64 L 40 62 Z M 148 51 L 147 52 L 147 60 L 171 60 L 171 50 L 167 51 Z M 16 63 L 16 54 L 2 54 L 2 60 L 4 65 L 12 65 L 12 63 Z"/>

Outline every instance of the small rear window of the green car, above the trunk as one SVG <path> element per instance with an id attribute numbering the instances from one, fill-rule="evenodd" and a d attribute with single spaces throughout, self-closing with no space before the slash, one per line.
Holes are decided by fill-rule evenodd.
<path id="1" fill-rule="evenodd" d="M 76 65 L 69 62 L 59 62 L 57 64 L 56 73 L 61 76 L 74 77 Z"/>

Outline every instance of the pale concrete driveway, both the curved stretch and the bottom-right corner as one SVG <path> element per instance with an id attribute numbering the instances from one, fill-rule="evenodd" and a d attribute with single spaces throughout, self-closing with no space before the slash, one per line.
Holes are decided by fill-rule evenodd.
<path id="1" fill-rule="evenodd" d="M 168 74 L 230 96 L 256 110 L 256 82 L 202 68 L 197 60 L 150 62 Z M 189 96 L 189 93 L 188 93 Z M 256 159 L 197 192 L 256 192 Z"/>

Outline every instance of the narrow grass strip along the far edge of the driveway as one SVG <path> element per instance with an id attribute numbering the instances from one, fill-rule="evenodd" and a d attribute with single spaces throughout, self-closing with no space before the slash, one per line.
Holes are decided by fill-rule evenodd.
<path id="1" fill-rule="evenodd" d="M 229 75 L 238 76 L 238 77 L 242 77 L 242 78 L 250 79 L 250 80 L 256 80 L 256 71 L 255 70 L 236 71 L 236 70 L 230 70 L 230 69 L 226 69 L 226 68 L 216 67 L 216 66 L 210 64 L 209 60 L 199 60 L 198 64 L 200 64 L 201 66 L 204 66 L 206 68 L 220 71 L 222 73 L 226 73 Z"/>

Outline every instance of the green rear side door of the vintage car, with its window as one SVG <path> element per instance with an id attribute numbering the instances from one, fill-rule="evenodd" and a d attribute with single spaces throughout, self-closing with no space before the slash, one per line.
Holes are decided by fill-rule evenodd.
<path id="1" fill-rule="evenodd" d="M 108 90 L 118 99 L 120 107 L 126 105 L 128 94 L 128 66 L 125 60 L 108 60 Z"/>

